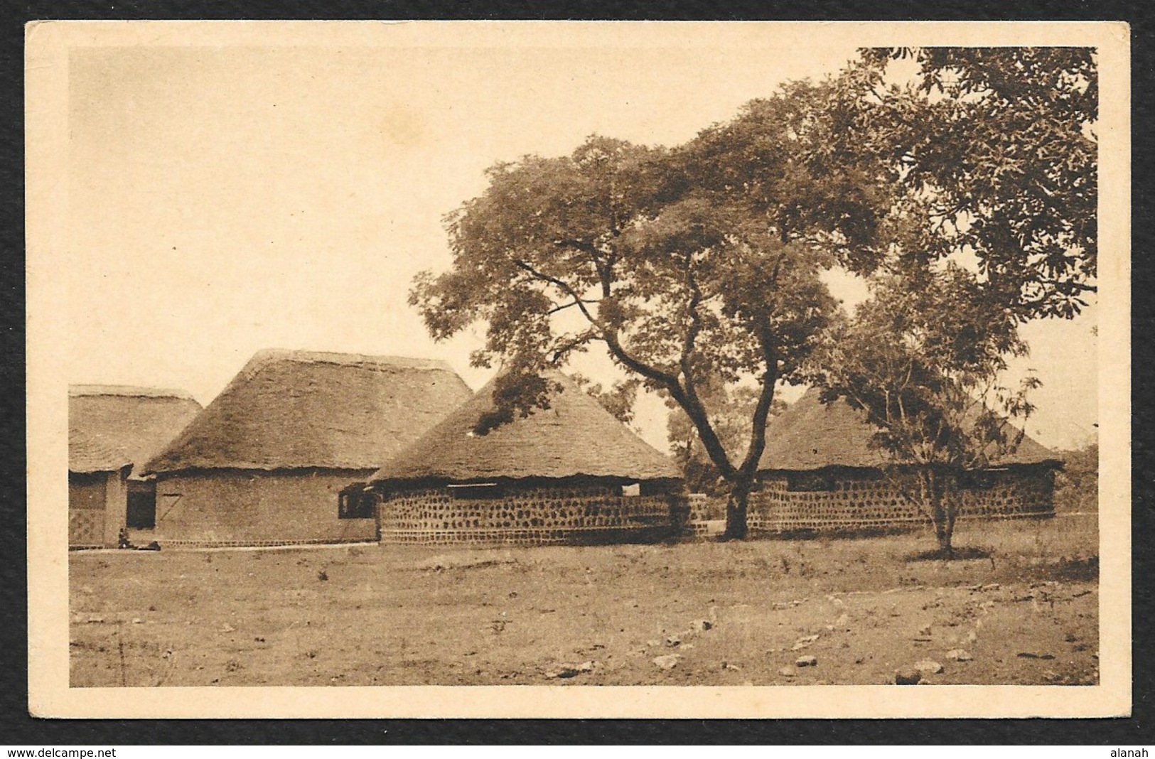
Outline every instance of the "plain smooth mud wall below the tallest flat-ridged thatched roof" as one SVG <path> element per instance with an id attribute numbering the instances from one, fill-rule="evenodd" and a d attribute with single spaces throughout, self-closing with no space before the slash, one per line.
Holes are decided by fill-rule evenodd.
<path id="1" fill-rule="evenodd" d="M 377 538 L 373 519 L 340 519 L 337 498 L 372 470 L 209 470 L 164 476 L 154 538 L 162 546 L 296 545 Z"/>

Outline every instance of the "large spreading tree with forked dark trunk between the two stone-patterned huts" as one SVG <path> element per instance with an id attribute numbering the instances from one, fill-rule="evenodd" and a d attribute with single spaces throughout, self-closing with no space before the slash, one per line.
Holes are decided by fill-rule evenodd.
<path id="1" fill-rule="evenodd" d="M 547 403 L 541 370 L 599 345 L 685 411 L 730 483 L 725 535 L 744 537 L 775 386 L 836 307 L 819 273 L 878 259 L 877 178 L 819 149 L 829 99 L 793 84 L 677 149 L 591 137 L 492 168 L 448 217 L 452 269 L 411 292 L 435 338 L 482 322 L 472 362 L 504 363 L 478 432 Z M 757 400 L 728 449 L 700 388 L 743 381 Z"/>

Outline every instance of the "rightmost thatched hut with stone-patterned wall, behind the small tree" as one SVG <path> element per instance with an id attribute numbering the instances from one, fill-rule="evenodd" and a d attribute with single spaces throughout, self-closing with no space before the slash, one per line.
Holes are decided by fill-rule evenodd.
<path id="1" fill-rule="evenodd" d="M 926 518 L 887 474 L 886 453 L 871 445 L 877 429 L 843 400 L 822 403 L 807 390 L 766 430 L 758 489 L 747 526 L 759 533 L 862 531 L 917 528 Z M 1018 449 L 971 472 L 960 519 L 1052 516 L 1059 456 L 1023 436 Z"/>

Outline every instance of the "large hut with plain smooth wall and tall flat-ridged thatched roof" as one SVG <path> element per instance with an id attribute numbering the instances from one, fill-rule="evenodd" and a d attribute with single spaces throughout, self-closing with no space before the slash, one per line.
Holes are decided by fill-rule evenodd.
<path id="1" fill-rule="evenodd" d="M 444 362 L 258 352 L 148 463 L 162 545 L 372 541 L 372 505 L 350 498 L 469 387 Z M 362 488 L 364 490 L 364 486 Z"/>

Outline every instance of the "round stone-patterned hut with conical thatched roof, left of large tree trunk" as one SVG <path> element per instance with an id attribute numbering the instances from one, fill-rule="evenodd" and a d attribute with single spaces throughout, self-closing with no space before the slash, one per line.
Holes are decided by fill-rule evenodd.
<path id="1" fill-rule="evenodd" d="M 490 382 L 371 478 L 382 543 L 643 542 L 680 528 L 675 463 L 566 375 L 549 408 L 484 434 Z"/>

